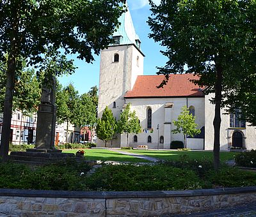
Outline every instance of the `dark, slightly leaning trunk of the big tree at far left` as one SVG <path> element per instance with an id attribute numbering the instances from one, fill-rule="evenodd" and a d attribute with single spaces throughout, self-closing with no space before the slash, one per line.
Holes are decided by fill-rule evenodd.
<path id="1" fill-rule="evenodd" d="M 17 58 L 17 40 L 19 33 L 19 4 L 14 6 L 12 10 L 13 24 L 12 24 L 12 38 L 10 38 L 10 54 L 8 56 L 8 68 L 6 71 L 6 91 L 4 95 L 4 111 L 3 111 L 3 128 L 1 134 L 0 157 L 1 161 L 8 160 L 11 121 L 12 121 L 12 101 L 15 84 L 16 58 Z"/>

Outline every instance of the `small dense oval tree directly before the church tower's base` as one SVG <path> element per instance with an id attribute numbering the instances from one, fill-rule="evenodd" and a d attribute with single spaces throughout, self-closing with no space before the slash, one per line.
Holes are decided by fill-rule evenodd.
<path id="1" fill-rule="evenodd" d="M 108 107 L 104 109 L 101 119 L 97 121 L 96 133 L 97 137 L 105 142 L 105 147 L 108 141 L 113 140 L 116 133 L 116 120 Z"/>

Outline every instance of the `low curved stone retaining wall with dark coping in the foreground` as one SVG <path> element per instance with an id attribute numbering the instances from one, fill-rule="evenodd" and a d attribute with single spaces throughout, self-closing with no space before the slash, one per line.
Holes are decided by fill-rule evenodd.
<path id="1" fill-rule="evenodd" d="M 0 189 L 0 216 L 161 216 L 256 202 L 256 186 L 191 191 Z"/>

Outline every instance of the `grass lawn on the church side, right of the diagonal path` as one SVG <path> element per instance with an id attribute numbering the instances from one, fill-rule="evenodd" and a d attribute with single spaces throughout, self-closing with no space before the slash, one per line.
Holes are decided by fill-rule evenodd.
<path id="1" fill-rule="evenodd" d="M 213 158 L 212 151 L 157 151 L 157 150 L 123 150 L 129 153 L 143 154 L 153 158 L 160 158 L 163 160 L 177 160 L 180 156 L 186 154 L 191 159 Z M 221 152 L 220 160 L 232 160 L 237 153 Z"/>

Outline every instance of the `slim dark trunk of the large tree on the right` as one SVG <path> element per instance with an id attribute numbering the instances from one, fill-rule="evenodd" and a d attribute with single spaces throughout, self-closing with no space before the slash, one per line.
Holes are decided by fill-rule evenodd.
<path id="1" fill-rule="evenodd" d="M 214 126 L 214 170 L 220 168 L 220 124 L 221 124 L 221 98 L 222 98 L 222 68 L 216 64 L 216 82 L 215 82 L 215 116 L 213 121 Z"/>

